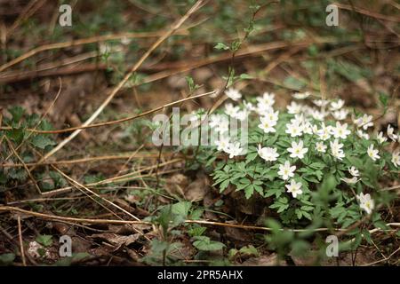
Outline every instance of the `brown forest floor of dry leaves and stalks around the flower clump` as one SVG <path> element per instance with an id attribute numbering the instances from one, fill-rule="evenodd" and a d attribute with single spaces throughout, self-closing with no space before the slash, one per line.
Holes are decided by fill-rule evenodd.
<path id="1" fill-rule="evenodd" d="M 151 140 L 172 106 L 220 106 L 208 92 L 222 96 L 232 70 L 237 90 L 274 92 L 277 109 L 311 91 L 398 132 L 396 1 L 339 2 L 338 27 L 328 1 L 69 2 L 61 27 L 57 1 L 0 0 L 0 264 L 399 264 L 396 227 L 367 226 L 372 241 L 333 258 L 313 255 L 314 234 L 309 254 L 271 248 L 264 201 L 220 193 L 196 150 Z M 396 195 L 379 209 L 387 224 L 400 221 L 399 184 L 380 180 Z"/>

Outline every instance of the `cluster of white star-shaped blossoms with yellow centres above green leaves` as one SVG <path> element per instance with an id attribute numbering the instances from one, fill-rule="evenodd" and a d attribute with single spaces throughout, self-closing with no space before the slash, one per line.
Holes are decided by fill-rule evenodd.
<path id="1" fill-rule="evenodd" d="M 229 99 L 236 102 L 242 99 L 242 94 L 236 89 L 231 88 L 225 94 Z M 304 92 L 294 94 L 293 98 L 303 100 L 310 96 L 309 92 Z M 296 165 L 291 164 L 291 162 L 304 159 L 309 154 L 310 148 L 315 149 L 318 154 L 329 154 L 337 162 L 342 162 L 348 154 L 344 142 L 357 136 L 368 141 L 369 146 L 365 154 L 372 162 L 378 162 L 381 158 L 380 152 L 383 151 L 381 147 L 383 143 L 387 141 L 400 142 L 400 135 L 395 133 L 391 125 L 388 125 L 386 135 L 382 131 L 377 134 L 370 134 L 374 127 L 372 115 L 364 114 L 350 117 L 350 112 L 342 99 L 314 99 L 311 102 L 312 106 L 296 101 L 292 101 L 290 105 L 286 106 L 287 114 L 284 115 L 290 114 L 292 118 L 284 120 L 284 134 L 290 138 L 291 146 L 288 146 L 284 152 L 281 150 L 281 153 L 279 153 L 278 148 L 274 146 L 258 145 L 258 155 L 265 162 L 268 162 L 268 166 L 276 162 L 281 155 L 292 158 L 292 161 L 288 159 L 279 164 L 277 175 L 287 182 L 286 191 L 292 193 L 293 198 L 297 198 L 303 191 L 301 183 L 292 178 L 294 172 L 299 169 L 296 169 Z M 232 103 L 226 104 L 225 114 L 240 121 L 255 114 L 256 119 L 260 120 L 258 128 L 262 131 L 263 138 L 268 138 L 275 135 L 282 115 L 274 109 L 274 104 L 275 94 L 265 92 L 253 103 L 242 100 L 241 106 L 234 106 Z M 219 114 L 212 115 L 211 124 L 212 127 L 221 132 L 228 130 L 228 122 L 222 121 Z M 311 137 L 311 139 L 308 139 L 309 145 L 304 143 L 306 137 Z M 227 153 L 229 158 L 241 155 L 243 150 L 240 143 L 231 142 L 228 138 L 220 138 L 217 141 L 217 147 L 219 151 Z M 398 150 L 391 154 L 391 162 L 397 168 L 400 166 Z M 355 166 L 348 168 L 348 174 L 349 177 L 341 178 L 348 185 L 355 185 L 361 180 L 360 172 Z M 370 194 L 360 193 L 356 199 L 359 201 L 360 208 L 370 214 L 374 207 Z"/>

